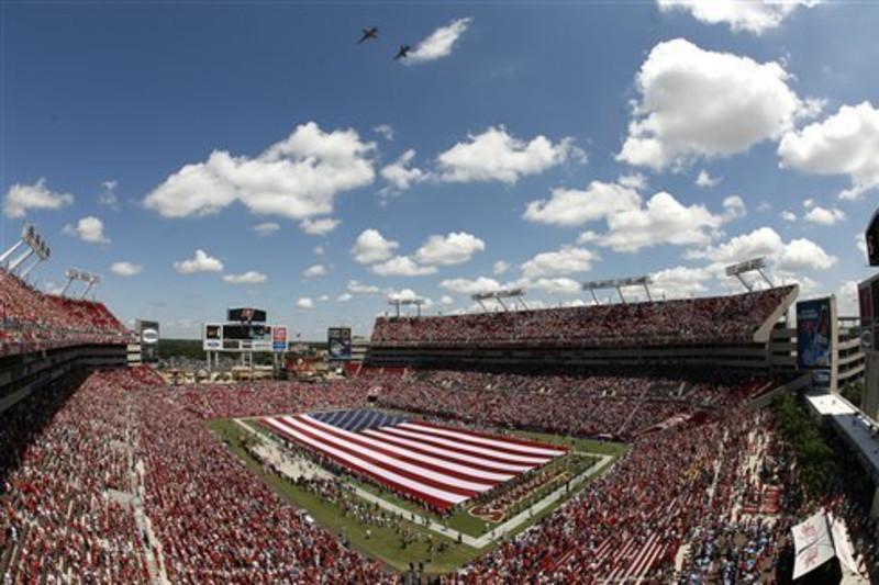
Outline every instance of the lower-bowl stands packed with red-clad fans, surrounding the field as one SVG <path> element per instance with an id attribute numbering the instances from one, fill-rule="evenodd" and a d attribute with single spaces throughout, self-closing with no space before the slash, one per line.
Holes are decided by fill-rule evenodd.
<path id="1" fill-rule="evenodd" d="M 846 518 L 861 562 L 876 562 L 877 526 L 865 520 L 866 491 L 858 492 L 857 481 L 839 477 L 838 490 L 828 496 L 798 493 L 771 412 L 733 407 L 760 385 L 734 386 L 733 401 L 716 396 L 728 386 L 704 380 L 683 385 L 624 378 L 614 385 L 603 376 L 491 380 L 461 372 L 393 375 L 381 395 L 418 395 L 413 389 L 421 387 L 436 400 L 439 393 L 466 392 L 455 385 L 490 386 L 493 396 L 483 392 L 453 403 L 456 416 L 474 421 L 488 405 L 522 393 L 557 400 L 605 394 L 608 401 L 626 397 L 631 403 L 655 393 L 689 401 L 699 415 L 635 437 L 611 473 L 531 530 L 444 577 L 446 583 L 555 583 L 576 575 L 757 581 L 783 554 L 788 527 L 817 506 Z M 307 521 L 201 423 L 216 416 L 354 408 L 366 403 L 376 378 L 333 384 L 255 382 L 207 386 L 204 392 L 156 390 L 151 387 L 155 382 L 145 370 L 102 372 L 78 390 L 76 384 L 56 387 L 3 415 L 0 453 L 18 454 L 2 462 L 0 569 L 13 580 L 53 576 L 57 582 L 71 574 L 146 580 L 147 552 L 164 560 L 175 582 L 314 582 L 319 575 L 331 583 L 393 580 Z M 391 383 L 411 387 L 389 390 Z M 542 407 L 537 403 L 532 409 Z M 591 407 L 602 409 L 604 403 Z M 507 426 L 522 420 L 509 418 Z M 558 423 L 558 430 L 572 430 L 565 427 L 571 420 Z M 12 449 L 13 443 L 26 448 Z M 137 493 L 155 540 L 145 538 L 132 519 L 127 495 Z"/>

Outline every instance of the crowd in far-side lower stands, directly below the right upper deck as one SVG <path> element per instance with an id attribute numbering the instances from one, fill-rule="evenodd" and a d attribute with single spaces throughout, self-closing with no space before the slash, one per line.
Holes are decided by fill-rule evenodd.
<path id="1" fill-rule="evenodd" d="M 705 409 L 745 404 L 766 379 L 522 375 L 427 371 L 372 382 L 378 405 L 486 427 L 630 439 Z"/>

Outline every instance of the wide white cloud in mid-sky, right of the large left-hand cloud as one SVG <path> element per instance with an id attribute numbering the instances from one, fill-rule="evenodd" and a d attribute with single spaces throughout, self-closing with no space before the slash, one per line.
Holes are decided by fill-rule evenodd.
<path id="1" fill-rule="evenodd" d="M 513 184 L 521 177 L 543 172 L 569 159 L 585 158 L 585 153 L 574 145 L 574 138 L 553 144 L 546 136 L 537 136 L 525 143 L 499 126 L 468 136 L 467 142 L 441 153 L 437 162 L 439 178 L 444 181 Z"/>

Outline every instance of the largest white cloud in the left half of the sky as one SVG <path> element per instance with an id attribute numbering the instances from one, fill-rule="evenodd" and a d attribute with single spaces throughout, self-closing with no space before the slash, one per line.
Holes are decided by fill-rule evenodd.
<path id="1" fill-rule="evenodd" d="M 256 157 L 214 150 L 186 165 L 144 200 L 165 217 L 218 213 L 240 201 L 251 212 L 302 220 L 332 213 L 336 194 L 375 180 L 372 143 L 353 130 L 300 125 Z"/>

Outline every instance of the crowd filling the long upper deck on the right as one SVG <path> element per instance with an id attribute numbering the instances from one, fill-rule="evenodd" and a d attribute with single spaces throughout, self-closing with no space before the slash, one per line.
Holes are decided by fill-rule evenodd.
<path id="1" fill-rule="evenodd" d="M 730 296 L 448 316 L 378 317 L 372 346 L 734 344 L 755 330 L 793 286 Z"/>

